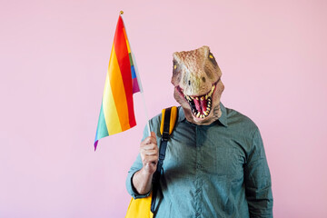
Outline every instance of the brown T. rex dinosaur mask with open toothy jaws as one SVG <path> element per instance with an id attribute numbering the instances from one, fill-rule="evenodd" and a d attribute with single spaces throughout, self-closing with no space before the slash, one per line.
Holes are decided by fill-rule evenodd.
<path id="1" fill-rule="evenodd" d="M 187 121 L 212 124 L 221 115 L 222 72 L 208 46 L 173 53 L 174 98 Z"/>

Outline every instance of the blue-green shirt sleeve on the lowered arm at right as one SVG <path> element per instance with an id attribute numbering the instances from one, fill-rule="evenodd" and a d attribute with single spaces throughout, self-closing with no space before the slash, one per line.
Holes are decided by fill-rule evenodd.
<path id="1" fill-rule="evenodd" d="M 253 134 L 253 147 L 244 165 L 245 194 L 251 218 L 272 217 L 272 180 L 259 130 Z"/>

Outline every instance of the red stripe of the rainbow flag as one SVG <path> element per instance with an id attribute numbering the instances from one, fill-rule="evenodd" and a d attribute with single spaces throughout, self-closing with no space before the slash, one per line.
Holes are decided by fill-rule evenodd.
<path id="1" fill-rule="evenodd" d="M 117 56 L 119 68 L 122 73 L 128 107 L 129 124 L 132 128 L 136 124 L 133 104 L 132 71 L 123 28 L 124 23 L 122 17 L 119 16 L 116 32 L 114 35 L 114 51 Z"/>

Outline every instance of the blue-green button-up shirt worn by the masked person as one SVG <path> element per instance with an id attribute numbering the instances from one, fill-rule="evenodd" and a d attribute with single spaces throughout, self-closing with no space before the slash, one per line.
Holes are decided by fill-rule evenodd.
<path id="1" fill-rule="evenodd" d="M 209 125 L 191 124 L 178 108 L 168 141 L 154 217 L 272 217 L 272 183 L 258 127 L 221 104 L 222 116 Z M 161 114 L 150 121 L 160 144 Z M 147 137 L 144 130 L 144 137 Z M 140 154 L 128 172 L 126 187 L 142 168 Z"/>

